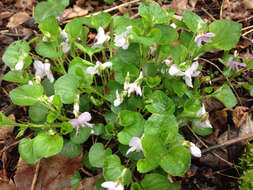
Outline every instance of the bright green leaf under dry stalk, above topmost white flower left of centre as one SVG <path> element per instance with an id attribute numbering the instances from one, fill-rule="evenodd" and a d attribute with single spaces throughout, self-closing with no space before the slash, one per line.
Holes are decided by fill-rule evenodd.
<path id="1" fill-rule="evenodd" d="M 98 29 L 100 26 L 105 29 L 111 23 L 112 16 L 109 13 L 99 13 L 98 15 L 81 18 L 82 24 Z"/>

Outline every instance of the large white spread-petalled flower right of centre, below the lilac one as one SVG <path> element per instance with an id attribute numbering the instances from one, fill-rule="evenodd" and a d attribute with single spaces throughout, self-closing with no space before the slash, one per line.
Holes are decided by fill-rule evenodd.
<path id="1" fill-rule="evenodd" d="M 197 61 L 193 62 L 193 64 L 186 69 L 185 72 L 181 71 L 175 64 L 171 65 L 169 69 L 169 74 L 171 76 L 183 76 L 185 83 L 193 88 L 192 85 L 192 77 L 196 77 L 199 75 L 199 71 L 197 71 L 199 63 Z"/>

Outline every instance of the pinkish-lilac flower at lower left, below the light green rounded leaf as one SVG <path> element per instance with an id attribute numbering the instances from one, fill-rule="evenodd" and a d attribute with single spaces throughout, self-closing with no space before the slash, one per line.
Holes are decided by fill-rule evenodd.
<path id="1" fill-rule="evenodd" d="M 71 119 L 69 123 L 76 129 L 76 136 L 78 135 L 79 127 L 90 127 L 92 124 L 88 123 L 91 120 L 91 115 L 89 112 L 82 113 L 78 118 Z"/>

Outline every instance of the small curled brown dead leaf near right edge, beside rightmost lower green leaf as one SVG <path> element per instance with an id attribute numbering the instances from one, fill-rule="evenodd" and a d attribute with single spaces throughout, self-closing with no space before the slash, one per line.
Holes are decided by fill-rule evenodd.
<path id="1" fill-rule="evenodd" d="M 237 106 L 232 112 L 232 119 L 236 127 L 240 127 L 248 117 L 249 108 Z"/>

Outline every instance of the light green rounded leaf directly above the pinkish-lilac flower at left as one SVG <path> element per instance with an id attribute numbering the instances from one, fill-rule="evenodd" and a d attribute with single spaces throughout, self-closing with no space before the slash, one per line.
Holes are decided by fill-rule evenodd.
<path id="1" fill-rule="evenodd" d="M 64 104 L 72 104 L 74 102 L 77 88 L 77 78 L 71 74 L 61 76 L 54 84 L 55 94 L 60 96 L 61 102 Z"/>

